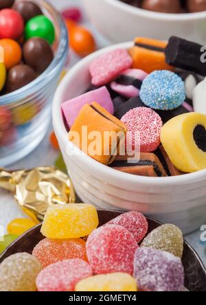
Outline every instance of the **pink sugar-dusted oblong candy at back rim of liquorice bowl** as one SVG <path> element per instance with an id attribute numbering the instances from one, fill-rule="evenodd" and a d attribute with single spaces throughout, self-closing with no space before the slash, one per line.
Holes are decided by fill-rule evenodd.
<path id="1" fill-rule="evenodd" d="M 118 74 L 133 64 L 125 49 L 115 49 L 99 56 L 90 66 L 92 84 L 102 86 L 114 80 Z"/>

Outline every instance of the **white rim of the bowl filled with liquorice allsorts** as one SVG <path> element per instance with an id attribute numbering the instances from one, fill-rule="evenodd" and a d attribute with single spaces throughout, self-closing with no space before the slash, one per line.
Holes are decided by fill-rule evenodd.
<path id="1" fill-rule="evenodd" d="M 117 48 L 123 48 L 123 49 L 129 49 L 133 45 L 132 42 L 127 43 L 119 43 L 117 45 L 111 45 L 109 47 L 105 47 L 103 49 L 98 50 L 97 52 L 94 52 L 93 54 L 85 57 L 84 59 L 80 60 L 79 63 L 74 65 L 66 74 L 66 76 L 63 78 L 63 80 L 58 85 L 58 88 L 56 89 L 56 93 L 54 95 L 54 101 L 52 105 L 52 120 L 55 131 L 57 131 L 57 137 L 60 138 L 60 143 L 63 142 L 64 146 L 70 146 L 72 150 L 79 151 L 79 148 L 77 148 L 73 143 L 69 142 L 68 140 L 68 133 L 65 128 L 65 124 L 62 119 L 62 113 L 60 111 L 60 104 L 62 104 L 63 101 L 61 101 L 61 94 L 62 91 L 65 91 L 65 88 L 68 87 L 68 82 L 70 82 L 73 77 L 78 74 L 79 71 L 81 71 L 82 67 L 84 65 L 87 65 L 87 63 L 93 59 L 95 59 L 97 56 L 100 56 L 101 54 L 104 54 L 105 52 L 109 52 L 113 49 Z M 141 183 L 144 185 L 159 185 L 162 186 L 172 186 L 172 185 L 179 185 L 180 183 L 192 183 L 193 181 L 203 181 L 206 179 L 206 169 L 205 170 L 199 170 L 198 172 L 192 172 L 188 174 L 183 174 L 180 176 L 172 176 L 172 177 L 142 177 L 142 176 L 135 176 L 133 174 L 128 174 L 125 172 L 120 172 L 117 170 L 113 170 L 113 168 L 110 168 L 108 166 L 105 166 L 104 164 L 95 161 L 91 157 L 89 157 L 87 154 L 81 152 L 81 157 L 84 163 L 88 164 L 88 167 L 95 168 L 104 174 L 108 174 L 114 179 L 126 179 L 127 181 L 130 181 L 131 183 Z"/>

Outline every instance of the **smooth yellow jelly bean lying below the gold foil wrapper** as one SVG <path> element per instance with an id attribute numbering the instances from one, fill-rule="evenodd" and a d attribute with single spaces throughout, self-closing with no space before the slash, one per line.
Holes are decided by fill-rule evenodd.
<path id="1" fill-rule="evenodd" d="M 9 234 L 21 235 L 35 225 L 36 223 L 31 219 L 17 218 L 8 224 L 7 231 Z"/>

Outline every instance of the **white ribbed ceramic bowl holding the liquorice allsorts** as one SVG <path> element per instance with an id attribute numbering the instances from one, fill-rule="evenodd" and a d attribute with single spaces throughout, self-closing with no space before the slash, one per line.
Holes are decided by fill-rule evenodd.
<path id="1" fill-rule="evenodd" d="M 84 93 L 91 84 L 89 65 L 113 45 L 84 58 L 62 80 L 54 96 L 54 131 L 78 196 L 100 208 L 139 210 L 155 219 L 176 223 L 190 232 L 206 223 L 206 170 L 179 177 L 139 177 L 98 163 L 69 142 L 60 104 Z M 73 154 L 71 154 L 73 152 Z"/>

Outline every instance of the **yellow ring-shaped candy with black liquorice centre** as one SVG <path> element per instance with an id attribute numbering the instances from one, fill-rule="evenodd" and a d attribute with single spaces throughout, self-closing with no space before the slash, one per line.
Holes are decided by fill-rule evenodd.
<path id="1" fill-rule="evenodd" d="M 176 168 L 196 172 L 206 168 L 206 115 L 185 113 L 161 128 L 161 143 Z"/>

